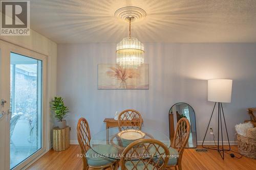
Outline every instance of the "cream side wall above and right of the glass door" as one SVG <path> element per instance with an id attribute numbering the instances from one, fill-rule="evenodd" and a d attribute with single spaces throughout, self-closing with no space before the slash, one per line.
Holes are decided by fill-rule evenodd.
<path id="1" fill-rule="evenodd" d="M 1 40 L 13 43 L 15 45 L 27 48 L 40 54 L 44 54 L 48 58 L 48 103 L 56 95 L 56 62 L 57 62 L 57 44 L 50 39 L 31 30 L 30 36 L 0 36 Z M 49 110 L 50 113 L 50 110 Z M 48 129 L 52 129 L 51 114 L 47 115 Z M 51 132 L 47 135 L 46 149 L 51 148 Z"/>

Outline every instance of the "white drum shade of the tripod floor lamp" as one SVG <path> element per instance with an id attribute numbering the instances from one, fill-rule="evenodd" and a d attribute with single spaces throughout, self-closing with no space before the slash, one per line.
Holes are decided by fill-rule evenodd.
<path id="1" fill-rule="evenodd" d="M 232 80 L 210 79 L 208 80 L 208 101 L 231 102 Z"/>

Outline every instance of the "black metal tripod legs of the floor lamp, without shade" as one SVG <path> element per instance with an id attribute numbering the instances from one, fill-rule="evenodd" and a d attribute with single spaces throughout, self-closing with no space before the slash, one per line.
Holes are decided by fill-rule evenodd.
<path id="1" fill-rule="evenodd" d="M 210 120 L 212 118 L 212 114 L 214 114 L 214 110 L 215 110 L 216 104 L 217 104 L 217 102 L 215 102 L 214 109 L 211 112 Z M 225 130 L 226 130 L 226 134 L 227 134 L 227 140 L 228 140 L 229 149 L 224 149 L 224 147 L 223 147 L 222 115 L 223 115 Z M 208 129 L 209 129 L 210 120 L 209 120 L 207 129 L 206 129 L 206 132 L 205 132 L 205 135 L 204 135 L 204 139 L 205 139 L 205 136 L 206 136 L 206 134 L 208 132 Z M 221 132 L 221 141 L 220 141 L 220 132 Z M 224 116 L 223 107 L 222 107 L 222 103 L 221 102 L 218 102 L 218 148 L 204 147 L 204 140 L 203 140 L 203 143 L 202 143 L 202 147 L 206 148 L 206 149 L 211 149 L 211 150 L 218 151 L 219 154 L 221 155 L 222 159 L 224 159 L 224 151 L 230 151 L 230 143 L 229 143 L 229 138 L 228 138 L 228 133 L 227 133 L 226 120 L 225 120 L 225 116 Z"/>

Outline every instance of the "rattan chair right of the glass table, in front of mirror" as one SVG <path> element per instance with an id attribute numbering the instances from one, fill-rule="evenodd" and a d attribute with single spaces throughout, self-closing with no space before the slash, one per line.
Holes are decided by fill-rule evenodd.
<path id="1" fill-rule="evenodd" d="M 177 169 L 178 166 L 179 170 L 182 170 L 181 160 L 188 141 L 189 133 L 190 125 L 188 119 L 183 117 L 177 123 L 172 147 L 169 148 L 170 158 L 167 163 L 167 169 L 170 169 L 170 167 L 175 167 L 175 169 Z"/>

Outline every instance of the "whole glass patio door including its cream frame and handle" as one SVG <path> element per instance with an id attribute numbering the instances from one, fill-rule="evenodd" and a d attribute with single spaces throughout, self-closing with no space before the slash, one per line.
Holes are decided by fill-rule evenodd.
<path id="1" fill-rule="evenodd" d="M 45 151 L 46 56 L 0 40 L 0 169 L 22 169 Z"/>

